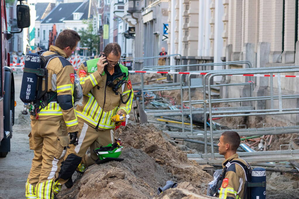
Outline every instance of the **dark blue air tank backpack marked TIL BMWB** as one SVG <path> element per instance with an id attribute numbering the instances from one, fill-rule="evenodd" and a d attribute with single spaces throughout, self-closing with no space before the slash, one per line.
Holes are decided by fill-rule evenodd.
<path id="1" fill-rule="evenodd" d="M 31 115 L 36 115 L 42 108 L 45 108 L 48 103 L 57 101 L 57 92 L 47 92 L 47 65 L 51 59 L 62 56 L 58 52 L 55 52 L 52 55 L 43 56 L 44 52 L 45 51 L 42 50 L 37 53 L 28 53 L 25 58 L 24 74 L 20 92 L 20 99 L 25 103 L 22 114 L 25 115 L 28 114 L 27 109 L 29 109 Z"/>

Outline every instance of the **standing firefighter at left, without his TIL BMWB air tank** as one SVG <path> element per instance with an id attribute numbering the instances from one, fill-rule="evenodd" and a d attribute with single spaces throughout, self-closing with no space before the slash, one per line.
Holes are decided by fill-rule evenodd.
<path id="1" fill-rule="evenodd" d="M 62 158 L 70 143 L 75 143 L 79 125 L 74 110 L 74 68 L 66 60 L 75 50 L 80 36 L 73 30 L 63 30 L 55 46 L 43 56 L 57 53 L 47 65 L 48 95 L 51 102 L 36 116 L 31 115 L 30 149 L 34 150 L 31 170 L 26 182 L 26 198 L 54 197 L 61 185 L 54 182 Z M 69 134 L 69 135 L 68 135 Z"/>

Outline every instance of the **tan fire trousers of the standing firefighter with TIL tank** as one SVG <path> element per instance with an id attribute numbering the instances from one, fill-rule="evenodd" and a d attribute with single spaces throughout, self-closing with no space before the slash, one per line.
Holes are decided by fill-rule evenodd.
<path id="1" fill-rule="evenodd" d="M 26 198 L 51 197 L 54 178 L 58 176 L 62 158 L 69 143 L 64 120 L 31 120 L 29 146 L 34 150 L 26 183 Z"/>

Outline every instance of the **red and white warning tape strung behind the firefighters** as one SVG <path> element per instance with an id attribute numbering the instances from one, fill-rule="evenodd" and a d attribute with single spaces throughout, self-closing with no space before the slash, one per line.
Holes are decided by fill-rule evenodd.
<path id="1" fill-rule="evenodd" d="M 12 69 L 21 69 L 23 67 L 10 67 Z M 78 70 L 78 69 L 75 69 Z M 207 73 L 197 73 L 197 72 L 165 72 L 165 71 L 129 71 L 130 73 L 160 73 L 160 74 L 197 74 L 205 75 Z M 236 74 L 229 76 L 251 76 L 251 77 L 270 77 L 266 74 Z M 273 77 L 278 77 L 278 75 L 273 75 Z M 280 75 L 280 77 L 299 77 L 299 75 Z"/>

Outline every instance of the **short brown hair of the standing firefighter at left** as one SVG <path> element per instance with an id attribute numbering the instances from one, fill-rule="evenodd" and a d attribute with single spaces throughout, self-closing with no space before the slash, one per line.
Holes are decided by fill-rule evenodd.
<path id="1" fill-rule="evenodd" d="M 78 33 L 74 30 L 65 29 L 59 33 L 55 40 L 55 46 L 60 49 L 65 49 L 66 47 L 70 47 L 71 49 L 76 46 L 76 43 L 80 41 L 81 38 Z"/>

